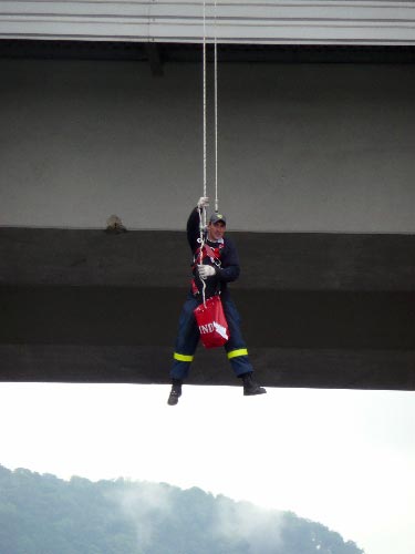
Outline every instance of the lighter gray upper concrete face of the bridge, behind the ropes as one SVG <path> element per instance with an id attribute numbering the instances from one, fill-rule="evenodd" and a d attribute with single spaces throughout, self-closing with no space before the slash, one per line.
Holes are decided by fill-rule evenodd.
<path id="1" fill-rule="evenodd" d="M 183 229 L 203 191 L 199 65 L 0 71 L 1 226 L 100 228 L 117 214 L 131 229 Z M 229 227 L 414 233 L 414 98 L 412 65 L 219 65 Z"/>

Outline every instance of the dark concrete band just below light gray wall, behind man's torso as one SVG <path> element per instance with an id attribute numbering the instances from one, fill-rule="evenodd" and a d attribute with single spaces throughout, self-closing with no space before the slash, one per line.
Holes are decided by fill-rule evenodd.
<path id="1" fill-rule="evenodd" d="M 234 288 L 415 291 L 415 235 L 230 233 Z M 168 271 L 166 265 L 168 264 Z M 183 232 L 0 227 L 0 284 L 186 287 Z"/>

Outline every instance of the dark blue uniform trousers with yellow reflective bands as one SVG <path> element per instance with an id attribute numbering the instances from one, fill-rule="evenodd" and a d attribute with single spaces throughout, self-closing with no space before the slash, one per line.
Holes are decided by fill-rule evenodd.
<path id="1" fill-rule="evenodd" d="M 240 332 L 240 316 L 229 298 L 222 300 L 225 317 L 229 327 L 229 340 L 224 345 L 228 359 L 236 376 L 252 371 L 252 366 L 248 358 L 248 350 Z M 199 329 L 194 315 L 195 308 L 201 304 L 200 298 L 189 293 L 183 306 L 179 318 L 179 330 L 176 339 L 174 361 L 170 370 L 173 379 L 184 380 L 189 373 L 190 363 L 194 360 L 197 343 L 200 338 Z"/>

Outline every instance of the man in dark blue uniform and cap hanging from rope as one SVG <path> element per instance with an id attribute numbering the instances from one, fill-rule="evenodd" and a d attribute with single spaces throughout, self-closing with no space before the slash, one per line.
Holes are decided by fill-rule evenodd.
<path id="1" fill-rule="evenodd" d="M 253 369 L 239 328 L 240 317 L 228 291 L 228 283 L 239 277 L 239 258 L 234 243 L 228 237 L 224 238 L 226 232 L 224 215 L 218 213 L 211 215 L 209 224 L 204 230 L 200 256 L 201 213 L 208 205 L 208 197 L 200 197 L 187 222 L 187 239 L 194 255 L 194 279 L 179 318 L 179 330 L 170 370 L 173 384 L 167 402 L 169 406 L 177 404 L 181 396 L 181 384 L 189 373 L 190 363 L 199 341 L 200 335 L 194 309 L 203 302 L 203 291 L 206 298 L 220 293 L 230 335 L 229 340 L 225 343 L 225 350 L 235 375 L 243 382 L 243 394 L 253 396 L 267 392 L 266 389 L 259 387 L 252 377 Z M 200 263 L 201 260 L 203 263 Z"/>

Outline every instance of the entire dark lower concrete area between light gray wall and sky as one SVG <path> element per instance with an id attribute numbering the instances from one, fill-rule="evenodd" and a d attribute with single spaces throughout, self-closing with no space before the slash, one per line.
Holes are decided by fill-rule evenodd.
<path id="1" fill-rule="evenodd" d="M 414 236 L 234 239 L 261 382 L 415 390 Z M 0 229 L 0 380 L 168 382 L 188 270 L 184 233 Z M 189 382 L 236 381 L 199 348 Z"/>

